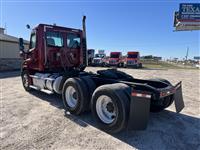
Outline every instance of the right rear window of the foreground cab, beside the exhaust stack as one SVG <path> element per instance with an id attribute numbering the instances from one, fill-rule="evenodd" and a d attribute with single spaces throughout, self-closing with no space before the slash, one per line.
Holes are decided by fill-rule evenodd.
<path id="1" fill-rule="evenodd" d="M 74 33 L 67 34 L 67 47 L 80 48 L 80 35 Z"/>

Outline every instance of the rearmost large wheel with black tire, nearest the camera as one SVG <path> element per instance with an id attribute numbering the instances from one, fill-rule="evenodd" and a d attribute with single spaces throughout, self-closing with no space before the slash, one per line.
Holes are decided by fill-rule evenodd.
<path id="1" fill-rule="evenodd" d="M 129 87 L 128 87 L 129 88 Z M 92 96 L 91 109 L 92 114 L 102 130 L 108 133 L 117 133 L 122 131 L 128 123 L 129 117 L 129 97 L 126 94 L 127 87 L 122 83 L 102 85 L 98 87 Z M 103 99 L 102 99 L 103 98 Z M 106 109 L 108 113 L 113 113 L 109 119 L 102 119 L 100 100 L 105 100 L 105 98 L 110 101 L 106 104 Z M 109 110 L 109 104 L 112 104 L 113 109 Z M 109 112 L 111 111 L 111 112 Z M 104 111 L 105 112 L 105 111 Z M 105 113 L 104 113 L 105 114 Z M 114 118 L 113 118 L 114 117 Z"/>

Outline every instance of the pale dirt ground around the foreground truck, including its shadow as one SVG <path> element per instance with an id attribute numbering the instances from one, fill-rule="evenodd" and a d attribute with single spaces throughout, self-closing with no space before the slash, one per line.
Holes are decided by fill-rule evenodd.
<path id="1" fill-rule="evenodd" d="M 87 68 L 96 71 L 99 68 Z M 121 69 L 135 78 L 183 82 L 185 108 L 151 113 L 144 131 L 109 135 L 91 113 L 65 114 L 61 97 L 25 92 L 19 72 L 0 73 L 0 149 L 200 149 L 200 71 Z"/>

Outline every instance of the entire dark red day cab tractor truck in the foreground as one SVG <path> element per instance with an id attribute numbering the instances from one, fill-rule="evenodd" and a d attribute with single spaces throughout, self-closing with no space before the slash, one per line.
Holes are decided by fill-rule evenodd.
<path id="1" fill-rule="evenodd" d="M 136 79 L 116 69 L 84 71 L 87 66 L 85 19 L 83 29 L 39 24 L 32 29 L 30 47 L 19 47 L 21 78 L 26 91 L 61 94 L 66 112 L 92 111 L 97 125 L 109 133 L 147 127 L 150 111 L 159 112 L 175 102 L 183 107 L 181 82 Z"/>

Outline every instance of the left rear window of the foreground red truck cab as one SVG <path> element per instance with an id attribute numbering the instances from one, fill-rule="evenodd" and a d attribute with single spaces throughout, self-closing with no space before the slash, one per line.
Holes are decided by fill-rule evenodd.
<path id="1" fill-rule="evenodd" d="M 47 32 L 46 41 L 49 47 L 63 47 L 63 38 L 59 32 Z"/>

